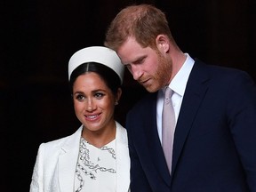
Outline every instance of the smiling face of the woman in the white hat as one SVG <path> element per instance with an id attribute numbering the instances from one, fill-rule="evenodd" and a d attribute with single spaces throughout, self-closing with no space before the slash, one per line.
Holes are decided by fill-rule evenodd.
<path id="1" fill-rule="evenodd" d="M 115 103 L 121 96 L 111 92 L 97 73 L 78 76 L 73 84 L 73 100 L 76 116 L 90 132 L 104 132 L 113 128 Z"/>

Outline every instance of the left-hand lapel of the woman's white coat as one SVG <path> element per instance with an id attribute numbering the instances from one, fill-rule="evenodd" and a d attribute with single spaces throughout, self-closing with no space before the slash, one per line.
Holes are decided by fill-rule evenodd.
<path id="1" fill-rule="evenodd" d="M 79 143 L 83 126 L 70 136 L 69 140 L 61 148 L 59 157 L 59 182 L 61 192 L 74 191 L 76 163 L 79 156 Z"/>

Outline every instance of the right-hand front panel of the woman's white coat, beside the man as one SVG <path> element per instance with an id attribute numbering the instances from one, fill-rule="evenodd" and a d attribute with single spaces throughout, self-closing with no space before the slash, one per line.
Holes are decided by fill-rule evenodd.
<path id="1" fill-rule="evenodd" d="M 130 187 L 130 156 L 126 130 L 116 122 L 116 192 Z"/>

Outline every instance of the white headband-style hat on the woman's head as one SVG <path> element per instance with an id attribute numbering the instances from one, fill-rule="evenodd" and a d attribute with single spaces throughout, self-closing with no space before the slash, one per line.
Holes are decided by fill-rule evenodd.
<path id="1" fill-rule="evenodd" d="M 123 83 L 124 65 L 115 51 L 103 46 L 91 46 L 75 52 L 68 61 L 68 80 L 78 66 L 86 62 L 97 62 L 112 68 Z"/>

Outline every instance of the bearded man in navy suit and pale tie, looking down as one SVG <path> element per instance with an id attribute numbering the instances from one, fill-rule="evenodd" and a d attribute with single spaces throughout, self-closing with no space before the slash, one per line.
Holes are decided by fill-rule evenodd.
<path id="1" fill-rule="evenodd" d="M 126 119 L 132 192 L 256 191 L 256 87 L 247 74 L 181 52 L 164 13 L 152 5 L 119 12 L 105 45 L 151 92 Z M 165 87 L 173 91 L 176 124 L 166 160 Z"/>

